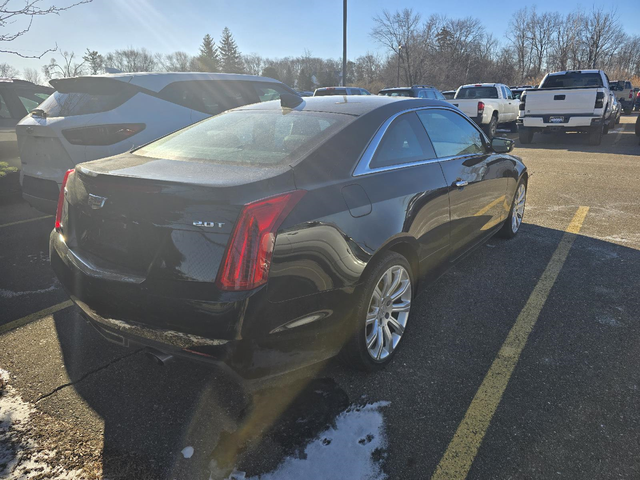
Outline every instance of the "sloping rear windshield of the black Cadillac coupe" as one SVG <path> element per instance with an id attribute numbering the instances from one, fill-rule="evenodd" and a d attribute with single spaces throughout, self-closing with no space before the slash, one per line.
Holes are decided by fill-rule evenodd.
<path id="1" fill-rule="evenodd" d="M 135 153 L 205 163 L 293 164 L 355 118 L 282 110 L 227 112 L 164 137 Z"/>

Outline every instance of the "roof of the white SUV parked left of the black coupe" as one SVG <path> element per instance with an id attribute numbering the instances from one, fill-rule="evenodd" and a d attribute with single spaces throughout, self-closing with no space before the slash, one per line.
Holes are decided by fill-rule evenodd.
<path id="1" fill-rule="evenodd" d="M 130 83 L 138 87 L 146 88 L 153 92 L 159 92 L 167 85 L 174 82 L 186 82 L 194 80 L 227 80 L 227 81 L 260 81 L 282 84 L 282 82 L 269 77 L 258 75 L 244 75 L 237 73 L 206 73 L 206 72 L 137 72 L 137 73 L 105 73 L 103 75 L 86 75 L 73 78 L 112 78 L 124 83 Z"/>

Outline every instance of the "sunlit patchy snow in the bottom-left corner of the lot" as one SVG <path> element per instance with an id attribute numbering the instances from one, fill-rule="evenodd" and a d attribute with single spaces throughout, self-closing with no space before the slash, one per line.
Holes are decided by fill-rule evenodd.
<path id="1" fill-rule="evenodd" d="M 9 372 L 0 369 L 0 378 L 5 383 L 0 391 L 0 478 L 82 478 L 81 470 L 68 471 L 56 465 L 55 452 L 38 448 L 29 435 L 29 418 L 36 409 L 9 384 Z"/>

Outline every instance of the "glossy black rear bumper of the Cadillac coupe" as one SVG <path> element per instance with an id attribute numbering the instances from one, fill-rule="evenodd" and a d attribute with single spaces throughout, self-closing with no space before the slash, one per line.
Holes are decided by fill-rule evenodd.
<path id="1" fill-rule="evenodd" d="M 217 365 L 244 379 L 277 375 L 334 356 L 343 345 L 335 332 L 355 303 L 345 301 L 339 291 L 272 303 L 265 289 L 257 289 L 227 300 L 202 301 L 185 298 L 189 287 L 174 286 L 182 295 L 176 297 L 146 281 L 96 269 L 75 255 L 55 230 L 49 248 L 63 287 L 105 338 Z M 335 308 L 336 299 L 344 308 Z M 324 316 L 305 323 L 301 312 Z M 263 331 L 267 316 L 285 328 Z M 292 321 L 303 326 L 286 328 Z"/>

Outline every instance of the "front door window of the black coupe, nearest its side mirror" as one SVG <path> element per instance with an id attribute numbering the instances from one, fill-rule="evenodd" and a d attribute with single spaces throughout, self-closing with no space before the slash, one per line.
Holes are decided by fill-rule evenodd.
<path id="1" fill-rule="evenodd" d="M 439 158 L 485 153 L 480 132 L 464 117 L 451 110 L 418 112 Z"/>

